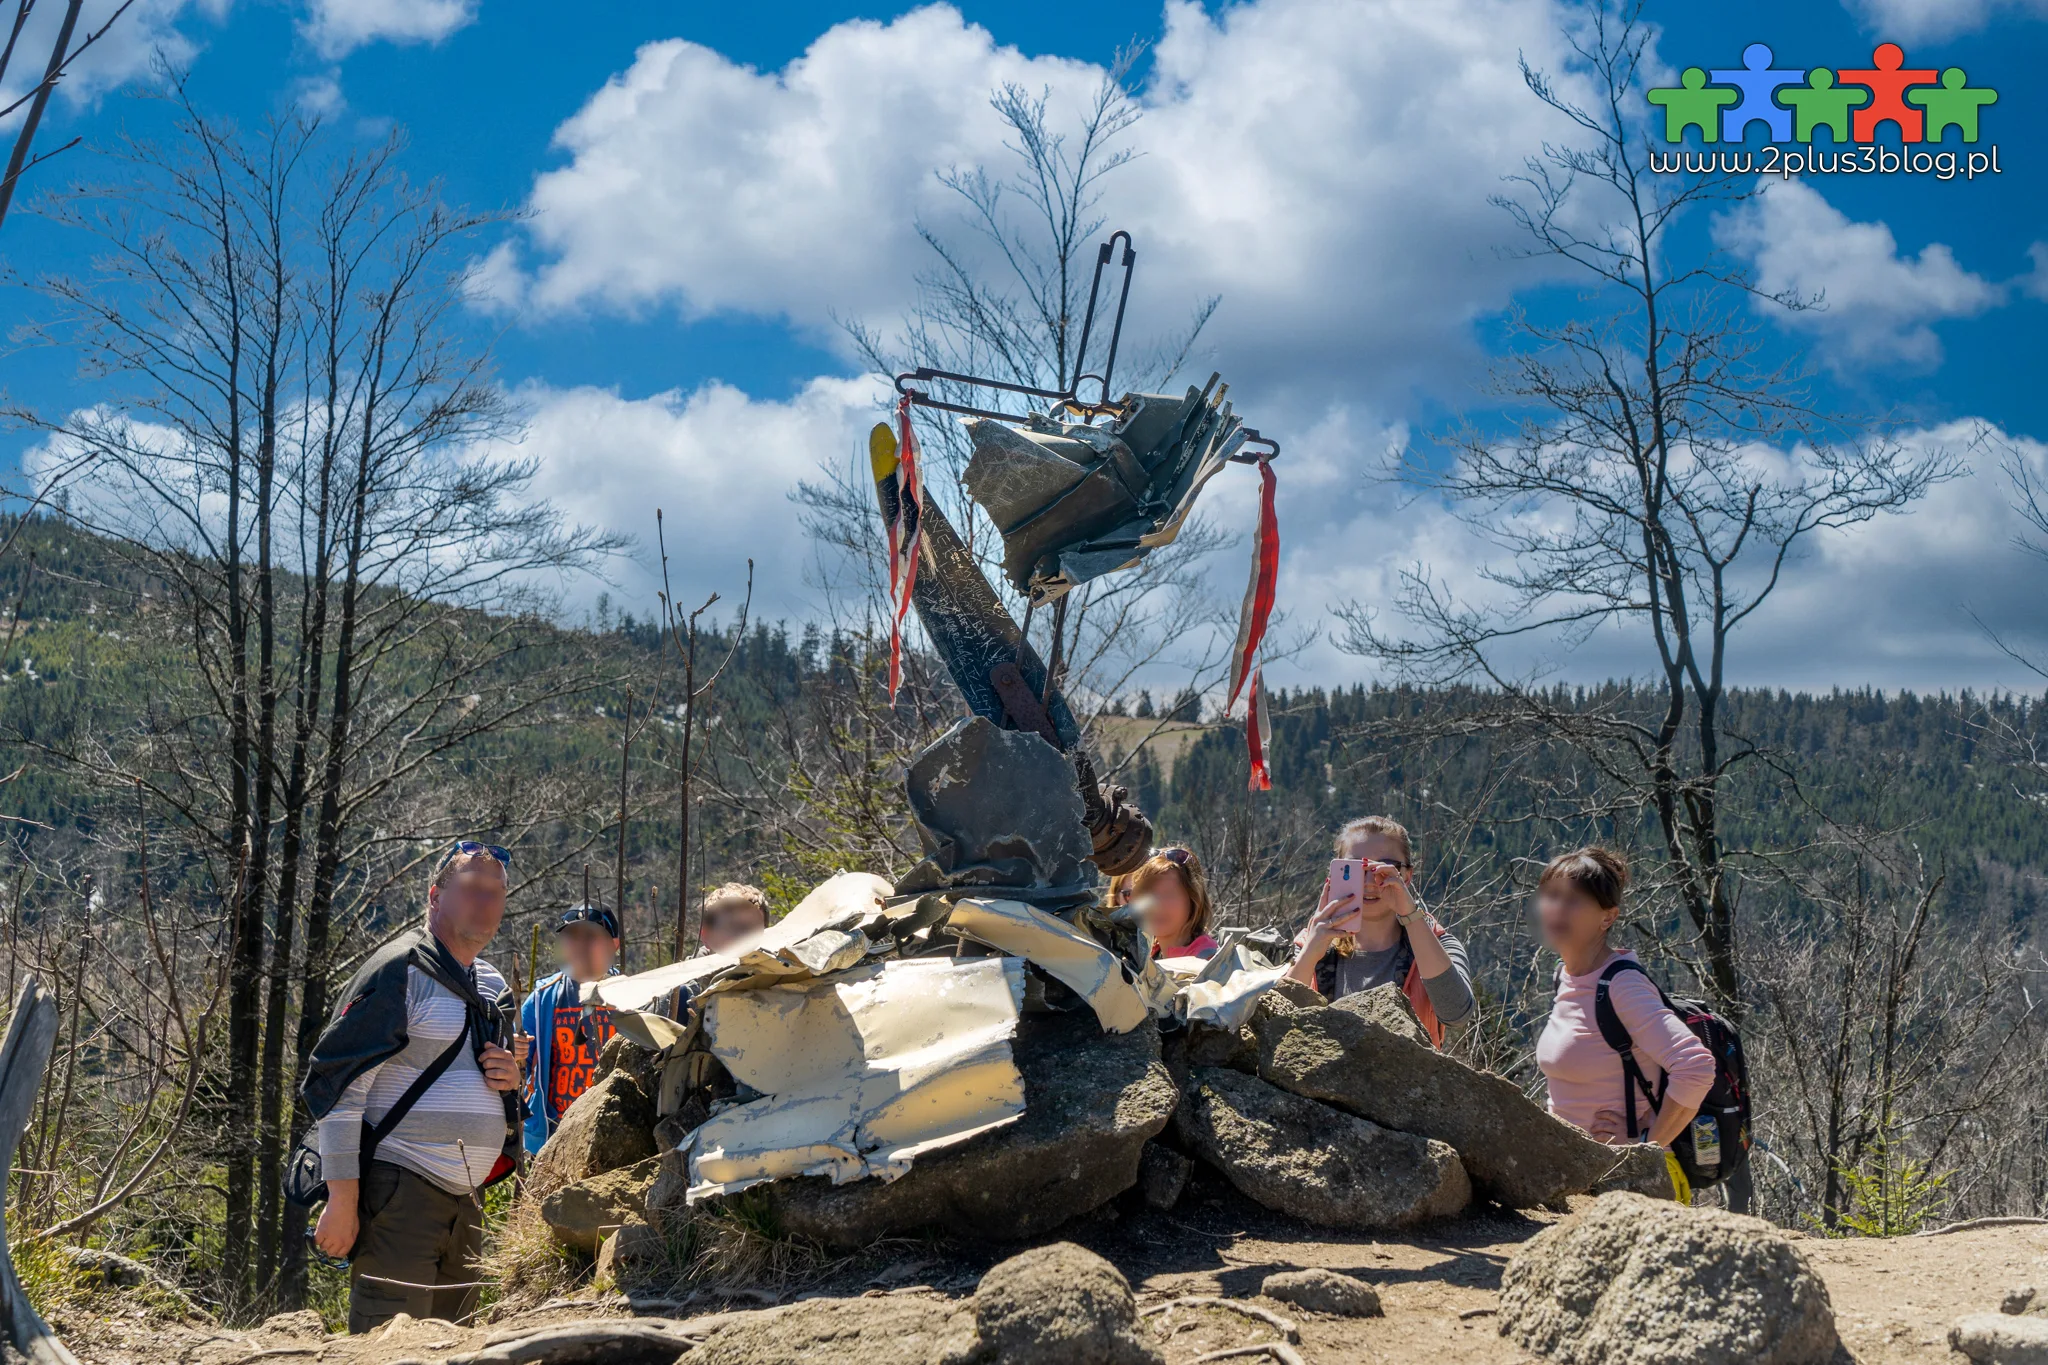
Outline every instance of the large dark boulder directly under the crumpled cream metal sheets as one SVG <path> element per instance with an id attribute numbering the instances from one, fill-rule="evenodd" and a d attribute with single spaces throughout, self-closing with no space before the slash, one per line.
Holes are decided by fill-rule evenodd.
<path id="1" fill-rule="evenodd" d="M 1094 1013 L 1026 1015 L 1018 1027 L 1024 1115 L 928 1152 L 891 1183 L 770 1181 L 784 1232 L 854 1250 L 913 1230 L 1012 1242 L 1096 1209 L 1139 1179 L 1145 1140 L 1180 1103 L 1159 1031 L 1104 1033 Z"/>

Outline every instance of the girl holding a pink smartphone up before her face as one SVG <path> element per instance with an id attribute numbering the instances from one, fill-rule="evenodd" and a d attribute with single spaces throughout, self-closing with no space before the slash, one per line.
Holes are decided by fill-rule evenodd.
<path id="1" fill-rule="evenodd" d="M 1407 829 L 1368 814 L 1337 831 L 1335 851 L 1288 976 L 1331 1001 L 1393 982 L 1442 1048 L 1444 1029 L 1473 1017 L 1473 970 L 1464 943 L 1415 900 Z"/>

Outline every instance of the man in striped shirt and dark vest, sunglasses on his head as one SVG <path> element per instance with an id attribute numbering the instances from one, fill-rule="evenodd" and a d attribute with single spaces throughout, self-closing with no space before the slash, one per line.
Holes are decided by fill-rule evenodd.
<path id="1" fill-rule="evenodd" d="M 326 1181 L 313 1244 L 350 1261 L 350 1332 L 477 1310 L 483 1189 L 520 1154 L 526 1040 L 479 958 L 510 864 L 469 839 L 442 853 L 426 925 L 371 954 L 313 1046 L 303 1095 Z"/>

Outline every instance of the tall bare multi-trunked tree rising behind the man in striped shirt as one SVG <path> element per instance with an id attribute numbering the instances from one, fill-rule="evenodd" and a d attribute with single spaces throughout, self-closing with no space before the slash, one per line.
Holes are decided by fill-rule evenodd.
<path id="1" fill-rule="evenodd" d="M 481 763 L 485 737 L 604 681 L 537 583 L 618 540 L 498 454 L 518 422 L 461 313 L 496 215 L 408 182 L 397 137 L 330 156 L 315 121 L 244 135 L 178 80 L 168 98 L 168 145 L 125 141 L 115 178 L 47 207 L 102 256 L 41 282 L 37 336 L 80 344 L 115 397 L 16 417 L 86 458 L 74 518 L 164 585 L 150 622 L 193 661 L 139 737 L 53 757 L 141 780 L 229 902 L 225 1083 L 254 1103 L 221 1138 L 221 1295 L 242 1308 L 303 1283 L 285 1097 L 358 921 L 436 839 L 545 819 L 535 790 L 436 792 L 434 761 Z"/>

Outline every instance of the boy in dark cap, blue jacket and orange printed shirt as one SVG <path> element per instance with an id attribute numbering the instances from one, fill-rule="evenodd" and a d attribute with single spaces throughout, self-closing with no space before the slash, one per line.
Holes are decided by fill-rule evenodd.
<path id="1" fill-rule="evenodd" d="M 584 986 L 618 970 L 618 917 L 602 905 L 571 905 L 555 921 L 561 970 L 535 982 L 520 1023 L 535 1040 L 526 1087 L 526 1150 L 539 1152 L 569 1105 L 598 1074 L 598 1052 L 616 1025 L 606 1005 L 584 1009 Z"/>

